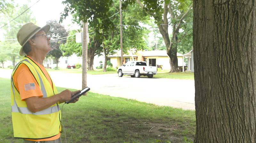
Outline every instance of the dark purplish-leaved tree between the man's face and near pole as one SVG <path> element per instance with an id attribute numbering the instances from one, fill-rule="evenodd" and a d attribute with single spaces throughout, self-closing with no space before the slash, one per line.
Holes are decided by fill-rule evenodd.
<path id="1" fill-rule="evenodd" d="M 62 26 L 57 20 L 49 20 L 46 22 L 51 26 L 48 31 L 48 35 L 50 35 L 51 39 L 56 39 L 51 42 L 51 47 L 53 48 L 48 56 L 51 56 L 56 61 L 56 69 L 58 69 L 59 59 L 62 56 L 62 52 L 60 51 L 60 44 L 65 43 L 66 39 L 57 39 L 62 37 L 67 37 L 68 32 L 64 26 Z"/>

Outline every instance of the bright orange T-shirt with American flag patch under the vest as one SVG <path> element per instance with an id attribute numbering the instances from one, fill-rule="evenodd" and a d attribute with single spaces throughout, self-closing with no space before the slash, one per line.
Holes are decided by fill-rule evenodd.
<path id="1" fill-rule="evenodd" d="M 31 59 L 31 58 L 30 58 Z M 48 73 L 46 72 L 44 66 L 38 64 L 36 61 L 34 61 L 42 70 L 45 77 L 49 81 L 49 83 L 52 85 L 52 80 Z M 20 64 L 20 66 L 16 69 L 15 73 L 13 74 L 13 83 L 18 92 L 20 93 L 20 98 L 22 101 L 25 101 L 25 99 L 29 97 L 43 97 L 43 93 L 34 78 L 33 74 L 29 71 L 28 67 L 25 64 Z M 52 87 L 53 88 L 53 87 Z M 56 136 L 53 136 L 51 138 L 47 139 L 27 139 L 31 141 L 50 141 L 60 138 L 60 133 Z"/>

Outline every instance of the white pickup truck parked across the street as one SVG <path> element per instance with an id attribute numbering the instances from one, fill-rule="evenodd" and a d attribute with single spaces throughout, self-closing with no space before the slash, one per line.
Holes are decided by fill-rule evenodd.
<path id="1" fill-rule="evenodd" d="M 147 66 L 146 62 L 142 61 L 129 61 L 123 66 L 118 67 L 117 73 L 119 77 L 123 75 L 131 75 L 131 77 L 139 78 L 141 75 L 153 78 L 156 74 L 156 66 Z"/>

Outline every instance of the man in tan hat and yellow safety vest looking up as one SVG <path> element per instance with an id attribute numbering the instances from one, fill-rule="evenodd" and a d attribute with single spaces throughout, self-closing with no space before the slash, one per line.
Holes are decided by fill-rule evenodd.
<path id="1" fill-rule="evenodd" d="M 27 23 L 17 34 L 22 46 L 20 56 L 24 57 L 12 72 L 12 125 L 14 138 L 24 139 L 25 143 L 61 142 L 59 104 L 79 92 L 64 90 L 58 94 L 43 66 L 46 54 L 52 50 L 47 36 L 49 29 L 49 25 L 40 28 Z"/>

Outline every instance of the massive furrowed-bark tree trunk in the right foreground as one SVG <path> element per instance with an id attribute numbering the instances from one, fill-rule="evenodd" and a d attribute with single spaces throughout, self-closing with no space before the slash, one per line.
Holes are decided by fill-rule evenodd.
<path id="1" fill-rule="evenodd" d="M 194 0 L 195 143 L 256 142 L 254 5 Z"/>

